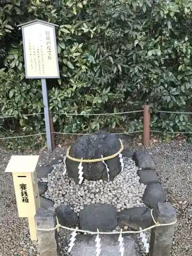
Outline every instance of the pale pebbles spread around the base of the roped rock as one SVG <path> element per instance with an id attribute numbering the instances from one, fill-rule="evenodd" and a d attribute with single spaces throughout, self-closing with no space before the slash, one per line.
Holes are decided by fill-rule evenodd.
<path id="1" fill-rule="evenodd" d="M 75 212 L 79 212 L 89 204 L 112 204 L 117 211 L 126 208 L 144 206 L 142 197 L 146 185 L 140 184 L 137 170 L 139 169 L 132 159 L 123 158 L 124 168 L 113 181 L 88 181 L 84 179 L 81 185 L 63 175 L 65 164 L 59 163 L 53 167 L 48 178 L 41 178 L 48 182 L 45 197 L 55 202 L 55 207 L 65 204 Z"/>

